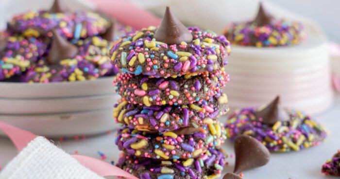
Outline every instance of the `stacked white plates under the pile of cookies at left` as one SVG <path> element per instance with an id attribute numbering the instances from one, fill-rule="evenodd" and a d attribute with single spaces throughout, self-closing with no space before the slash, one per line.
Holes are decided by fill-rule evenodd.
<path id="1" fill-rule="evenodd" d="M 119 99 L 112 81 L 0 83 L 0 121 L 47 137 L 112 130 L 112 101 Z"/>

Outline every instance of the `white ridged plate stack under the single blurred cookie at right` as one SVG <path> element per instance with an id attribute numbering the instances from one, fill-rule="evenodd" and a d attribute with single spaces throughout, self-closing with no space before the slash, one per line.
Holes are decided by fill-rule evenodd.
<path id="1" fill-rule="evenodd" d="M 329 60 L 319 33 L 292 47 L 233 46 L 226 67 L 233 80 L 225 92 L 232 108 L 260 106 L 279 94 L 284 106 L 316 114 L 333 101 Z"/>

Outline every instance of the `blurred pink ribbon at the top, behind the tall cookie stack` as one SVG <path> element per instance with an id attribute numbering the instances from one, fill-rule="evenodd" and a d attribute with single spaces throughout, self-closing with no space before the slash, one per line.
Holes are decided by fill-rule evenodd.
<path id="1" fill-rule="evenodd" d="M 91 0 L 91 2 L 95 3 L 98 10 L 106 15 L 136 29 L 151 25 L 158 26 L 161 22 L 158 17 L 131 4 L 127 0 Z"/>

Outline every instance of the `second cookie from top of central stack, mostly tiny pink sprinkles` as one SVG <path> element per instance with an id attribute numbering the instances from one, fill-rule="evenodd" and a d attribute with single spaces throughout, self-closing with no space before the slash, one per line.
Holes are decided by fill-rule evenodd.
<path id="1" fill-rule="evenodd" d="M 223 70 L 208 74 L 185 75 L 177 78 L 149 78 L 144 75 L 122 73 L 117 75 L 114 84 L 124 101 L 145 105 L 182 105 L 208 100 L 219 93 L 229 75 Z"/>

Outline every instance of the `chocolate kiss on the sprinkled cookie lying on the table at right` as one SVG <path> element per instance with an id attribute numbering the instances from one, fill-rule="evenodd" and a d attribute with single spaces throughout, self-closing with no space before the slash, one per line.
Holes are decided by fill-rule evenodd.
<path id="1" fill-rule="evenodd" d="M 280 106 L 280 96 L 276 96 L 270 104 L 256 109 L 255 115 L 257 119 L 262 118 L 262 123 L 267 125 L 274 125 L 277 121 L 285 122 L 290 119 L 287 111 Z"/>

